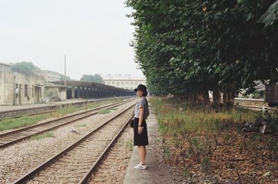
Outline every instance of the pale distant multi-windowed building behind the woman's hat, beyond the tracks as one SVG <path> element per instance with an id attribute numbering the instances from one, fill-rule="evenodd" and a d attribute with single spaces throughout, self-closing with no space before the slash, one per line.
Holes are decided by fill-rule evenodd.
<path id="1" fill-rule="evenodd" d="M 138 84 L 144 84 L 147 86 L 145 77 L 132 77 L 131 75 L 106 75 L 103 77 L 104 84 L 109 86 L 115 86 L 122 89 L 133 90 L 136 89 Z"/>

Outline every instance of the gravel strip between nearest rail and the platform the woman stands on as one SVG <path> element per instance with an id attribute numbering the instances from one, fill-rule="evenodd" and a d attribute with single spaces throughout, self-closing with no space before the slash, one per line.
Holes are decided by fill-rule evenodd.
<path id="1" fill-rule="evenodd" d="M 133 129 L 126 127 L 88 183 L 122 183 L 133 150 Z"/>

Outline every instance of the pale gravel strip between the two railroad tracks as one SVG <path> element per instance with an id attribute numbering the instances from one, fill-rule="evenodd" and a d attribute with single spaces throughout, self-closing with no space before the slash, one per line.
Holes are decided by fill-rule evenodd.
<path id="1" fill-rule="evenodd" d="M 123 104 L 107 114 L 97 114 L 52 131 L 54 137 L 24 140 L 0 150 L 0 183 L 11 183 L 34 167 L 65 149 L 75 140 L 94 129 L 136 101 Z M 132 110 L 133 111 L 133 110 Z M 132 112 L 131 111 L 131 112 Z M 131 114 L 131 112 L 129 112 Z"/>

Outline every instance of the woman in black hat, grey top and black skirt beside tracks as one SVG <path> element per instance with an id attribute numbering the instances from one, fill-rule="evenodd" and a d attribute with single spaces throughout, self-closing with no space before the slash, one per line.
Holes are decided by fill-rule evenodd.
<path id="1" fill-rule="evenodd" d="M 149 140 L 147 136 L 147 123 L 146 119 L 147 116 L 149 116 L 149 107 L 148 107 L 148 102 L 146 99 L 147 95 L 147 87 L 143 84 L 139 84 L 136 89 L 138 97 L 140 98 L 138 103 L 136 104 L 135 110 L 134 110 L 134 127 L 133 127 L 133 143 L 134 145 L 138 146 L 139 149 L 139 157 L 140 157 L 140 163 L 134 168 L 136 169 L 146 169 L 146 163 L 145 163 L 145 158 L 146 158 L 146 145 L 149 145 Z"/>

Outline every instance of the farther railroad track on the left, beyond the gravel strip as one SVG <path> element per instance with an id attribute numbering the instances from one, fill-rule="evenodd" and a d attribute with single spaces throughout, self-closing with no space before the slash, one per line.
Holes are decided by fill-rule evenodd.
<path id="1" fill-rule="evenodd" d="M 31 136 L 42 134 L 42 133 L 44 133 L 46 131 L 50 131 L 52 129 L 57 129 L 58 127 L 75 122 L 76 120 L 81 120 L 83 118 L 93 116 L 93 115 L 99 113 L 99 111 L 101 109 L 112 109 L 114 107 L 118 107 L 118 106 L 120 106 L 122 104 L 126 104 L 128 102 L 131 102 L 131 100 L 126 100 L 124 102 L 119 102 L 116 104 L 109 104 L 109 105 L 106 105 L 103 107 L 97 107 L 95 109 L 90 109 L 90 110 L 83 111 L 80 113 L 74 113 L 72 115 L 64 116 L 62 118 L 48 120 L 46 122 L 31 125 L 28 127 L 23 127 L 21 129 L 15 129 L 13 131 L 8 131 L 6 133 L 0 134 L 0 149 L 3 147 L 7 147 L 8 145 L 12 145 L 15 142 L 19 142 L 26 138 L 30 138 Z"/>

